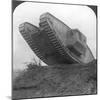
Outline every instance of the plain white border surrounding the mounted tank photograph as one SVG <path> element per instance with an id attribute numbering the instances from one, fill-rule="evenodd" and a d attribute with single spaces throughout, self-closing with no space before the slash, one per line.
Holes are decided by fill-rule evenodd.
<path id="1" fill-rule="evenodd" d="M 33 0 L 33 1 L 89 4 L 89 5 L 98 5 L 100 7 L 99 0 Z M 100 20 L 99 13 L 98 13 L 98 20 Z M 98 21 L 98 26 L 100 26 L 99 21 Z M 99 32 L 100 29 L 98 29 L 98 38 L 100 38 Z M 99 42 L 100 39 L 98 39 L 98 44 Z M 98 51 L 100 51 L 99 45 L 98 45 Z M 98 58 L 99 58 L 99 54 L 98 54 Z M 100 76 L 99 65 L 100 65 L 100 61 L 98 60 L 98 77 Z M 66 100 L 66 99 L 67 100 L 85 100 L 85 99 L 99 100 L 100 99 L 99 84 L 100 84 L 100 79 L 98 78 L 98 95 L 54 97 L 54 98 L 41 98 L 41 99 L 39 98 L 37 100 L 51 100 L 51 99 L 52 100 Z M 0 3 L 0 100 L 9 100 L 10 96 L 11 96 L 11 0 L 1 0 Z"/>

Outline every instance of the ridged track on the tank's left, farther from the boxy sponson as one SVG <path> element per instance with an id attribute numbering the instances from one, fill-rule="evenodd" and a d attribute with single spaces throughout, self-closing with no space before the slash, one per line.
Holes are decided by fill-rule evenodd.
<path id="1" fill-rule="evenodd" d="M 46 59 L 43 57 L 43 55 L 41 54 L 39 48 L 37 47 L 37 45 L 33 42 L 32 38 L 31 38 L 31 35 L 28 34 L 28 30 L 26 31 L 25 30 L 25 24 L 30 24 L 30 23 L 23 23 L 19 26 L 19 31 L 21 33 L 21 35 L 23 36 L 23 38 L 26 40 L 26 42 L 28 43 L 28 45 L 30 46 L 30 48 L 35 52 L 35 54 L 45 63 L 46 62 Z M 31 25 L 31 24 L 30 24 Z M 33 25 L 32 25 L 33 26 Z M 33 26 L 35 27 L 35 26 Z M 36 27 L 35 27 L 36 28 Z M 37 29 L 38 30 L 38 29 Z M 34 34 L 37 34 L 39 32 L 38 31 L 34 31 Z"/>

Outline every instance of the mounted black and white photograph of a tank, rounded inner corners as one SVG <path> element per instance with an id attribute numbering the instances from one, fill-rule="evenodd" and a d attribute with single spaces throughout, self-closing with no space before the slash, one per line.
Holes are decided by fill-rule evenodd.
<path id="1" fill-rule="evenodd" d="M 97 6 L 12 0 L 12 98 L 96 95 Z"/>

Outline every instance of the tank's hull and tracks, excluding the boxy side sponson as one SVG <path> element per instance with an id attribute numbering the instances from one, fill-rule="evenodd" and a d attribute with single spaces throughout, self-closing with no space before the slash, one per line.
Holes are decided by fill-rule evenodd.
<path id="1" fill-rule="evenodd" d="M 46 64 L 85 64 L 94 59 L 87 45 L 87 56 L 82 60 L 66 47 L 66 34 L 71 28 L 51 14 L 47 13 L 40 16 L 39 25 L 38 28 L 25 22 L 19 26 L 19 31 L 30 48 Z"/>

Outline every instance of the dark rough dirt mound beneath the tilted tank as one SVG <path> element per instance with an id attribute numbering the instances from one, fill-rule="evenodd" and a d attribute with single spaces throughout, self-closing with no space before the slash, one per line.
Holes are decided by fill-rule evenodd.
<path id="1" fill-rule="evenodd" d="M 13 98 L 97 93 L 97 62 L 87 65 L 32 66 L 13 83 Z"/>

